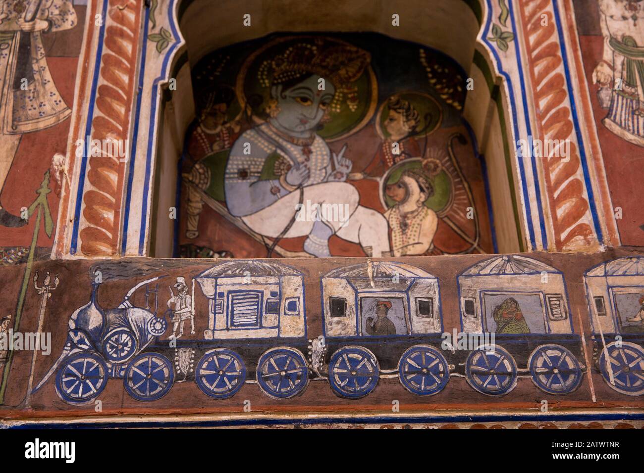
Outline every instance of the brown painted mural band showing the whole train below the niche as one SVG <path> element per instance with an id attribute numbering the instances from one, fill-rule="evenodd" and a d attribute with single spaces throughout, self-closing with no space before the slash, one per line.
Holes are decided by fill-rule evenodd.
<path id="1" fill-rule="evenodd" d="M 643 255 L 275 261 L 37 262 L 0 409 L 644 407 Z"/>

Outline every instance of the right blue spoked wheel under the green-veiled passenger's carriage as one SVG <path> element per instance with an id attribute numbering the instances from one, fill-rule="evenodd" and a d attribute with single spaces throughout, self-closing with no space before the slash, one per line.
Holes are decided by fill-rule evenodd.
<path id="1" fill-rule="evenodd" d="M 533 383 L 548 394 L 572 393 L 582 382 L 582 367 L 569 349 L 542 345 L 527 362 Z"/>

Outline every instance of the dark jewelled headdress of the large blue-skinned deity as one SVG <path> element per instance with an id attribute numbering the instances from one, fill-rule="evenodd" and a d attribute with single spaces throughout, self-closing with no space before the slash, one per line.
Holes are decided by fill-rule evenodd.
<path id="1" fill-rule="evenodd" d="M 332 112 L 341 111 L 343 101 L 351 111 L 355 111 L 358 99 L 353 83 L 361 77 L 370 61 L 371 55 L 365 50 L 319 38 L 293 44 L 283 53 L 265 60 L 258 71 L 258 79 L 261 86 L 268 88 L 316 74 L 336 86 L 336 95 L 330 106 Z"/>

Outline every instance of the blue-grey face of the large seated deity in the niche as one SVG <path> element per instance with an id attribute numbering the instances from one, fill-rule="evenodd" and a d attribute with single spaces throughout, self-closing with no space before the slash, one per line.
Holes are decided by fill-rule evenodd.
<path id="1" fill-rule="evenodd" d="M 283 89 L 281 85 L 272 87 L 271 95 L 278 101 L 279 107 L 274 122 L 281 129 L 296 136 L 304 136 L 317 129 L 336 93 L 336 88 L 329 80 L 325 80 L 325 90 L 318 90 L 319 79 L 319 75 L 310 75 L 288 89 Z"/>

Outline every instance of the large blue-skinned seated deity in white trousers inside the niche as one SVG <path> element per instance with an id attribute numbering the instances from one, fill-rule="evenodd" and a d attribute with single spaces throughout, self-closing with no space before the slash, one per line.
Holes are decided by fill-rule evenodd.
<path id="1" fill-rule="evenodd" d="M 229 212 L 254 232 L 273 239 L 307 236 L 308 254 L 330 256 L 332 235 L 359 243 L 367 255 L 389 254 L 387 222 L 359 205 L 346 183 L 352 162 L 344 149 L 331 153 L 316 130 L 328 110 L 355 82 L 370 55 L 353 46 L 325 41 L 294 44 L 266 60 L 260 82 L 270 88 L 269 118 L 236 140 L 225 171 Z M 347 210 L 317 219 L 298 219 L 302 206 L 336 205 Z"/>

